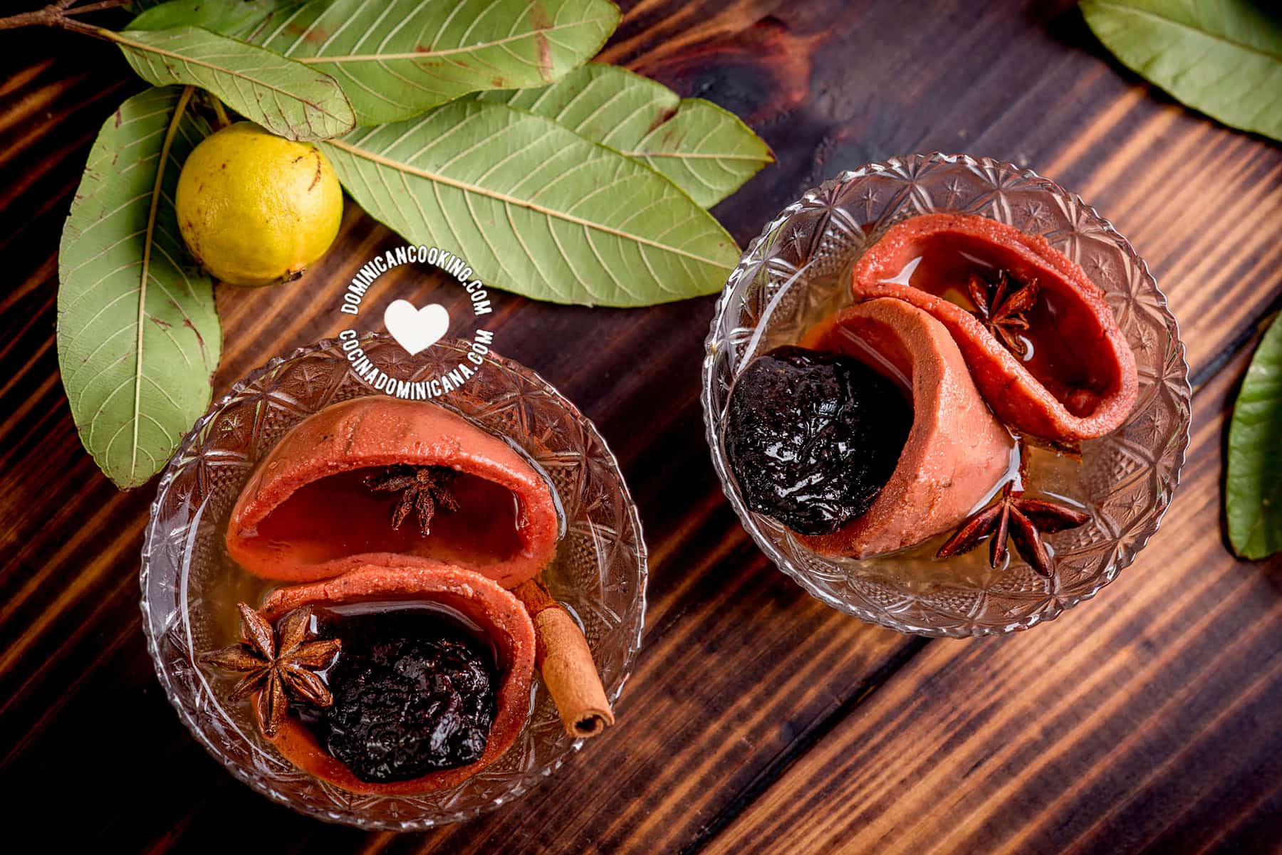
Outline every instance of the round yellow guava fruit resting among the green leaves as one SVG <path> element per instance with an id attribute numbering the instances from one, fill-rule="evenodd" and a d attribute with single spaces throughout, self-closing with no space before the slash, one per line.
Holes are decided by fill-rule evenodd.
<path id="1" fill-rule="evenodd" d="M 342 187 L 315 146 L 237 122 L 187 156 L 174 206 L 205 269 L 258 287 L 296 279 L 324 255 L 342 222 Z"/>

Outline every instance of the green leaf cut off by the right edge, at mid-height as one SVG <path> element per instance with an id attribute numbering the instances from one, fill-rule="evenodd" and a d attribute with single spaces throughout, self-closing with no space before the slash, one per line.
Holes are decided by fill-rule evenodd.
<path id="1" fill-rule="evenodd" d="M 1233 405 L 1224 490 L 1228 540 L 1242 558 L 1282 550 L 1282 323 L 1274 320 Z"/>

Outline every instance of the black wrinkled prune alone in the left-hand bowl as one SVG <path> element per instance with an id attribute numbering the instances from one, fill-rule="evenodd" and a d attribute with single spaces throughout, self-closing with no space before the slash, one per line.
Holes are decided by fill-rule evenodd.
<path id="1" fill-rule="evenodd" d="M 496 713 L 494 669 L 474 641 L 437 633 L 344 633 L 329 673 L 333 705 L 317 724 L 329 754 L 359 779 L 409 781 L 485 751 Z"/>

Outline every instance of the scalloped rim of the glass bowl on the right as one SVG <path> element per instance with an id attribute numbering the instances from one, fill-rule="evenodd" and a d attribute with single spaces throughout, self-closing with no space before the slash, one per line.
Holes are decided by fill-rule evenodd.
<path id="1" fill-rule="evenodd" d="M 747 268 L 758 265 L 760 263 L 760 259 L 755 258 L 758 251 L 768 240 L 770 240 L 770 236 L 781 226 L 783 226 L 788 219 L 791 219 L 804 208 L 808 197 L 820 196 L 824 192 L 831 191 L 840 185 L 845 185 L 858 178 L 864 178 L 874 173 L 888 172 L 908 164 L 926 164 L 926 163 L 944 163 L 950 165 L 964 165 L 976 169 L 990 168 L 990 169 L 999 169 L 1003 172 L 1010 172 L 1013 174 L 1019 176 L 1020 178 L 1032 181 L 1044 192 L 1053 192 L 1053 194 L 1058 192 L 1065 197 L 1074 200 L 1078 205 L 1081 205 L 1082 210 L 1086 213 L 1087 217 L 1094 218 L 1094 220 L 1100 226 L 1101 232 L 1108 235 L 1110 240 L 1115 241 L 1119 247 L 1126 250 L 1129 254 L 1129 256 L 1135 259 L 1135 261 L 1138 265 L 1141 278 L 1146 283 L 1151 283 L 1154 291 L 1154 306 L 1160 313 L 1161 318 L 1170 323 L 1170 328 L 1174 332 L 1174 347 L 1172 349 L 1172 358 L 1177 360 L 1179 364 L 1178 377 L 1176 379 L 1178 379 L 1178 391 L 1182 394 L 1181 395 L 1182 400 L 1188 403 L 1188 411 L 1186 418 L 1183 419 L 1182 428 L 1177 431 L 1177 433 L 1173 437 L 1176 440 L 1176 449 L 1172 456 L 1169 487 L 1163 492 L 1161 496 L 1159 496 L 1159 500 L 1151 511 L 1151 518 L 1153 518 L 1151 526 L 1146 532 L 1144 532 L 1141 537 L 1136 538 L 1133 555 L 1138 555 L 1147 546 L 1153 536 L 1158 533 L 1158 529 L 1161 526 L 1161 520 L 1167 515 L 1167 511 L 1170 508 L 1170 502 L 1174 500 L 1174 494 L 1176 490 L 1179 487 L 1179 479 L 1183 472 L 1186 454 L 1192 436 L 1192 406 L 1191 406 L 1192 386 L 1190 385 L 1188 381 L 1190 368 L 1187 360 L 1187 349 L 1185 346 L 1183 338 L 1179 335 L 1179 322 L 1176 318 L 1174 313 L 1170 311 L 1169 300 L 1167 299 L 1165 292 L 1163 292 L 1161 287 L 1158 285 L 1156 277 L 1154 277 L 1153 272 L 1149 269 L 1149 263 L 1144 259 L 1144 256 L 1141 256 L 1136 251 L 1131 241 L 1124 235 L 1122 235 L 1109 219 L 1103 217 L 1099 213 L 1099 210 L 1095 209 L 1094 205 L 1087 204 L 1086 201 L 1082 200 L 1082 197 L 1078 194 L 1065 190 L 1058 182 L 1042 174 L 1038 174 L 1033 169 L 1029 169 L 1027 167 L 1019 167 L 1017 164 L 1005 160 L 997 160 L 995 158 L 986 158 L 986 156 L 976 158 L 967 154 L 945 154 L 942 151 L 928 151 L 924 154 L 908 154 L 908 155 L 886 158 L 883 160 L 874 160 L 856 169 L 844 169 L 840 173 L 837 173 L 833 178 L 829 178 L 819 183 L 817 187 L 812 187 L 804 191 L 795 201 L 785 206 L 778 214 L 767 220 L 765 224 L 762 227 L 762 231 L 756 235 L 756 237 L 749 241 L 747 247 L 744 250 L 744 254 L 738 259 L 738 263 L 735 265 L 735 269 L 731 270 L 729 276 L 726 279 L 726 283 L 722 286 L 720 294 L 717 296 L 717 303 L 713 309 L 713 317 L 712 322 L 709 323 L 708 336 L 706 338 L 704 338 L 704 360 L 701 372 L 703 388 L 700 391 L 700 403 L 703 404 L 703 410 L 704 410 L 704 440 L 708 442 L 708 450 L 709 454 L 712 455 L 713 468 L 715 469 L 717 477 L 720 481 L 722 494 L 726 496 L 726 500 L 729 502 L 731 508 L 735 510 L 735 514 L 738 517 L 740 524 L 744 527 L 745 531 L 747 531 L 749 536 L 756 544 L 758 549 L 760 549 L 765 554 L 765 556 L 770 559 L 770 563 L 774 564 L 774 567 L 778 570 L 788 576 L 794 582 L 800 585 L 801 588 L 805 590 L 805 592 L 813 596 L 814 599 L 819 600 L 820 602 L 832 609 L 854 615 L 867 623 L 882 626 L 888 629 L 895 629 L 896 632 L 901 632 L 905 635 L 917 635 L 932 638 L 938 638 L 938 637 L 970 638 L 970 637 L 987 637 L 987 636 L 1006 636 L 1010 635 L 1011 632 L 1029 629 L 1037 624 L 1054 620 L 1055 618 L 1058 618 L 1074 605 L 1095 597 L 1095 595 L 1099 594 L 1105 586 L 1115 581 L 1117 577 L 1122 574 L 1122 570 L 1124 570 L 1127 567 L 1131 565 L 1133 559 L 1114 567 L 1111 572 L 1103 573 L 1100 579 L 1095 585 L 1092 585 L 1090 590 L 1073 595 L 1069 599 L 1056 599 L 1054 608 L 1036 611 L 1018 620 L 1011 620 L 1001 627 L 970 627 L 970 628 L 919 627 L 919 626 L 909 626 L 905 623 L 896 623 L 886 613 L 864 609 L 859 605 L 854 605 L 851 602 L 847 602 L 845 600 L 829 595 L 828 592 L 815 586 L 810 581 L 804 569 L 794 567 L 792 561 L 787 560 L 786 556 L 781 555 L 778 547 L 769 538 L 767 538 L 762 533 L 759 527 L 753 522 L 753 511 L 747 510 L 746 505 L 744 505 L 742 500 L 736 495 L 736 491 L 731 486 L 733 483 L 732 482 L 733 476 L 726 469 L 724 461 L 722 459 L 723 455 L 719 452 L 722 441 L 719 432 L 717 429 L 717 414 L 714 413 L 715 405 L 713 400 L 713 387 L 714 383 L 717 382 L 715 363 L 718 358 L 718 347 L 722 344 L 722 337 L 719 336 L 719 328 L 722 326 L 723 319 L 726 318 L 727 310 L 729 309 L 732 288 L 737 285 L 740 277 L 744 276 Z M 940 210 L 947 210 L 947 208 L 941 208 Z M 1168 374 L 1170 372 L 1168 372 Z"/>

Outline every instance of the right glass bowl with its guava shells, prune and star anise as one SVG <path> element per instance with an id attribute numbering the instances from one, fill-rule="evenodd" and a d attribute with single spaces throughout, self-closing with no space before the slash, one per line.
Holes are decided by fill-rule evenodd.
<path id="1" fill-rule="evenodd" d="M 1111 581 L 1170 501 L 1188 399 L 1126 238 L 960 155 L 785 209 L 704 363 L 713 460 L 756 542 L 829 605 L 926 635 L 1026 628 Z"/>

